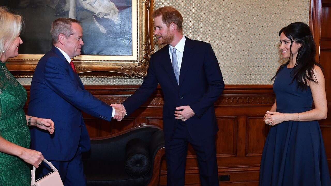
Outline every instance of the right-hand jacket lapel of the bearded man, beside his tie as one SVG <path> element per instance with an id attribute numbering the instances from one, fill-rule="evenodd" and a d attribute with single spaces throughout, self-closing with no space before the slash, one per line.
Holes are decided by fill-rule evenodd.
<path id="1" fill-rule="evenodd" d="M 183 82 L 183 79 L 185 78 L 187 70 L 190 68 L 190 66 L 192 66 L 193 47 L 194 47 L 194 45 L 192 45 L 191 39 L 186 37 L 182 65 L 180 67 L 180 74 L 179 74 L 179 88 Z"/>

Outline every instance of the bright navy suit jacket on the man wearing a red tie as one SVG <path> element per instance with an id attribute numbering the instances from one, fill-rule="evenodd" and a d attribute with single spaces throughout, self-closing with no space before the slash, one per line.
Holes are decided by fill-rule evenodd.
<path id="1" fill-rule="evenodd" d="M 82 152 L 88 151 L 90 138 L 82 111 L 110 121 L 113 108 L 84 89 L 66 58 L 53 46 L 34 71 L 28 115 L 52 119 L 55 132 L 50 135 L 32 127 L 31 149 L 52 161 L 71 160 L 78 147 Z"/>

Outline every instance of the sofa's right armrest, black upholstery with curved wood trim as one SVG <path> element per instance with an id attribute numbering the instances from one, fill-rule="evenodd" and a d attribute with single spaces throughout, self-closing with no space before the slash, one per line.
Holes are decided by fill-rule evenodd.
<path id="1" fill-rule="evenodd" d="M 163 130 L 158 130 L 150 138 L 151 174 L 148 186 L 157 186 L 160 179 L 160 166 L 165 154 L 165 140 Z"/>

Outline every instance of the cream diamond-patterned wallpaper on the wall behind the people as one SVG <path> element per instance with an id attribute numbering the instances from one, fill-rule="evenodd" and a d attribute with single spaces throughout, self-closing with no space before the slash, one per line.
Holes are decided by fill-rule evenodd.
<path id="1" fill-rule="evenodd" d="M 225 84 L 272 84 L 270 79 L 285 62 L 278 50 L 278 31 L 289 23 L 309 21 L 309 0 L 155 0 L 156 9 L 162 6 L 173 6 L 183 15 L 184 35 L 212 44 Z M 142 79 L 82 82 L 139 85 Z"/>

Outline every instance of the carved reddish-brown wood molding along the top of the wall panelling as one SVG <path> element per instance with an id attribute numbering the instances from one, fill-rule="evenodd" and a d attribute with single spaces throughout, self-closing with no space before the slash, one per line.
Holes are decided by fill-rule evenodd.
<path id="1" fill-rule="evenodd" d="M 24 87 L 29 91 L 29 85 Z M 139 85 L 86 85 L 85 89 L 110 105 L 122 103 L 138 87 Z M 226 85 L 223 94 L 215 102 L 215 106 L 272 105 L 273 103 L 275 103 L 275 95 L 272 85 Z M 143 106 L 162 107 L 163 105 L 162 89 L 159 86 Z"/>

